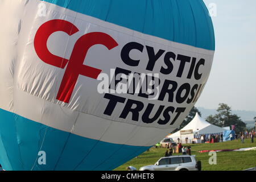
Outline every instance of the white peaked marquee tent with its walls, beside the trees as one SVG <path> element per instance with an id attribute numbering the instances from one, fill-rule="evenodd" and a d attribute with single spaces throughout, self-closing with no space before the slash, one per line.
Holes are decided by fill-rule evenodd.
<path id="1" fill-rule="evenodd" d="M 169 135 L 168 137 L 174 139 L 177 142 L 179 138 L 181 143 L 186 143 L 185 138 L 188 138 L 187 142 L 192 143 L 192 140 L 197 138 L 200 139 L 201 135 L 208 135 L 210 134 L 218 134 L 220 135 L 226 129 L 222 127 L 218 127 L 215 125 L 210 124 L 209 122 L 205 121 L 205 119 L 201 118 L 198 113 L 196 113 L 195 117 L 192 119 L 191 122 L 188 123 L 183 129 L 177 131 L 174 134 Z M 195 140 L 195 142 L 199 142 Z"/>

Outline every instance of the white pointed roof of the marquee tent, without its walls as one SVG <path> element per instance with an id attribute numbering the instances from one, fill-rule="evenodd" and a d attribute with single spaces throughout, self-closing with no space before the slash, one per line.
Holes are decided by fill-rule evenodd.
<path id="1" fill-rule="evenodd" d="M 195 117 L 192 119 L 191 122 L 188 123 L 183 130 L 193 130 L 193 133 L 198 134 L 208 134 L 208 133 L 221 133 L 225 131 L 225 129 L 222 129 L 221 127 L 215 126 L 210 124 L 209 122 L 205 121 L 205 119 L 201 118 L 198 113 L 196 113 Z M 176 133 L 172 134 L 170 137 L 176 137 L 180 136 L 180 131 L 177 131 Z"/>

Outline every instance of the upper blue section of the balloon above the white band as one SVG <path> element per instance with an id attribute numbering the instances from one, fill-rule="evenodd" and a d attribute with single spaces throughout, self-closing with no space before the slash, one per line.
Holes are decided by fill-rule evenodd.
<path id="1" fill-rule="evenodd" d="M 203 0 L 41 0 L 144 34 L 215 49 Z"/>

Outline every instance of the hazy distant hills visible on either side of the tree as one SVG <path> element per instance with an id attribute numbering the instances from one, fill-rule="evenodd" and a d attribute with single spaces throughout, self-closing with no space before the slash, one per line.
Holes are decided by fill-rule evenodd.
<path id="1" fill-rule="evenodd" d="M 201 112 L 203 118 L 207 118 L 209 115 L 217 114 L 215 109 L 205 109 L 204 107 L 197 107 L 197 109 Z M 242 121 L 247 124 L 247 127 L 255 126 L 253 118 L 256 117 L 256 111 L 232 110 L 232 113 L 241 117 Z"/>

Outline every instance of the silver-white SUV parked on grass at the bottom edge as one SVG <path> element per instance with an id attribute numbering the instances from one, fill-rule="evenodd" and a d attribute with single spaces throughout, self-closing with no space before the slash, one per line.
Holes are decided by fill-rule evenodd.
<path id="1" fill-rule="evenodd" d="M 144 166 L 139 171 L 201 171 L 201 162 L 195 155 L 175 155 L 160 158 L 155 165 Z"/>

